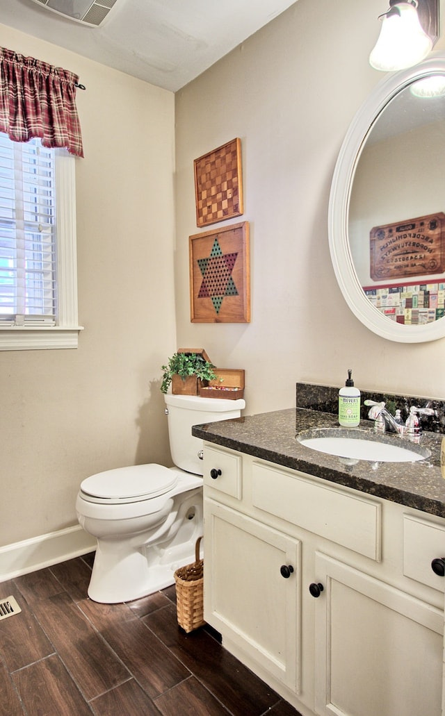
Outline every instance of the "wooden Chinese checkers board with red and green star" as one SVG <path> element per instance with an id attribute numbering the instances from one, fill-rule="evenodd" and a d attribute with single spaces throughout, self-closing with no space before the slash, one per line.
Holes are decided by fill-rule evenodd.
<path id="1" fill-rule="evenodd" d="M 192 323 L 249 323 L 249 222 L 188 238 Z"/>

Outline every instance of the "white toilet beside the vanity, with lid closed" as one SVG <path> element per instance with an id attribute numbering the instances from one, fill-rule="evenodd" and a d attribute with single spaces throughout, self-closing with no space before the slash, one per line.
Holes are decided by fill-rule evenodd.
<path id="1" fill-rule="evenodd" d="M 243 399 L 164 396 L 175 467 L 150 463 L 97 473 L 80 485 L 77 519 L 97 539 L 88 596 L 118 604 L 174 583 L 203 533 L 202 440 L 192 425 L 239 417 Z"/>

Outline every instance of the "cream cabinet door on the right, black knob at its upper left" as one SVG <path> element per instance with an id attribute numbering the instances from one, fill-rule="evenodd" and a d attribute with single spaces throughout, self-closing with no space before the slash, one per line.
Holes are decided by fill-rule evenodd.
<path id="1" fill-rule="evenodd" d="M 315 574 L 317 714 L 440 716 L 443 612 L 322 553 Z"/>

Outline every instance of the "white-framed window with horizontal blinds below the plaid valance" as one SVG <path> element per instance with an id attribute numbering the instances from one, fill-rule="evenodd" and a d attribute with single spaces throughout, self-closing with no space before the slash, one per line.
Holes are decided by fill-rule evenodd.
<path id="1" fill-rule="evenodd" d="M 0 350 L 75 348 L 75 158 L 0 133 Z"/>

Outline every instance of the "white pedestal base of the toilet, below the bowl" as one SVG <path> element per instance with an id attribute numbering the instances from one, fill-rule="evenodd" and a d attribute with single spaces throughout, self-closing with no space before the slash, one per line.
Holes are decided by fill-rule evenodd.
<path id="1" fill-rule="evenodd" d="M 197 498 L 198 497 L 198 498 Z M 184 518 L 191 506 L 193 519 Z M 174 584 L 179 567 L 195 561 L 195 544 L 202 535 L 202 490 L 193 490 L 181 505 L 178 529 L 170 538 L 135 548 L 135 536 L 128 539 L 98 539 L 88 596 L 100 604 L 134 601 Z"/>

